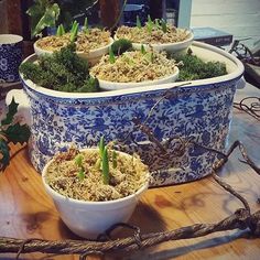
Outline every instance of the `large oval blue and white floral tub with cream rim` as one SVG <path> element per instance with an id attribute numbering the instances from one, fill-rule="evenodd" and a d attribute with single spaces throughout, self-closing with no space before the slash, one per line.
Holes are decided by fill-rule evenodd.
<path id="1" fill-rule="evenodd" d="M 153 186 L 208 175 L 216 153 L 203 147 L 225 151 L 234 95 L 243 66 L 232 55 L 208 44 L 195 42 L 192 50 L 205 61 L 225 62 L 228 75 L 185 86 L 171 83 L 98 94 L 54 91 L 21 76 L 30 98 L 30 156 L 34 167 L 42 171 L 54 153 L 72 142 L 79 148 L 93 147 L 105 136 L 106 141 L 124 140 L 124 151 L 140 154 L 150 166 Z M 145 122 L 164 145 L 163 152 L 133 119 Z"/>

